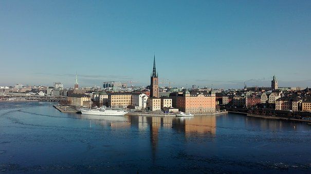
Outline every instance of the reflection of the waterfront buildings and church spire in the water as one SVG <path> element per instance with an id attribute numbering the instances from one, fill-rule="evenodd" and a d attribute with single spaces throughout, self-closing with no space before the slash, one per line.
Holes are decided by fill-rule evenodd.
<path id="1" fill-rule="evenodd" d="M 153 161 L 156 159 L 157 146 L 159 141 L 160 128 L 172 128 L 183 133 L 185 138 L 196 135 L 215 135 L 216 116 L 195 116 L 195 117 L 150 117 L 150 116 L 97 116 L 77 115 L 77 118 L 96 120 L 96 124 L 111 126 L 114 128 L 136 127 L 140 131 L 150 133 L 150 145 L 152 148 Z M 148 129 L 149 127 L 149 129 Z"/>

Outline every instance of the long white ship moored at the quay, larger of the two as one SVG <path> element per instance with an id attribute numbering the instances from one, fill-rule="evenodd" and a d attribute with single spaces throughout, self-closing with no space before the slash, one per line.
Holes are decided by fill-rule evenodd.
<path id="1" fill-rule="evenodd" d="M 105 116 L 124 116 L 128 112 L 124 111 L 123 108 L 112 108 L 112 107 L 95 107 L 95 108 L 81 108 L 82 114 L 88 115 L 105 115 Z"/>

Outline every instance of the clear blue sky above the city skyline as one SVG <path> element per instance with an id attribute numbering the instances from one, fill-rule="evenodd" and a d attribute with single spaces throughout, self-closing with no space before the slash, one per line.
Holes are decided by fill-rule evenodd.
<path id="1" fill-rule="evenodd" d="M 311 1 L 0 1 L 0 85 L 148 85 L 154 53 L 166 85 L 311 86 Z"/>

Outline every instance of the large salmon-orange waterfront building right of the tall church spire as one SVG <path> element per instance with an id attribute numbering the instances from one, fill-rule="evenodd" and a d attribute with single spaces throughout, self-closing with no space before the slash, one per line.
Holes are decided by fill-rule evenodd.
<path id="1" fill-rule="evenodd" d="M 209 113 L 216 111 L 216 96 L 208 92 L 186 91 L 177 97 L 177 108 L 186 113 Z"/>

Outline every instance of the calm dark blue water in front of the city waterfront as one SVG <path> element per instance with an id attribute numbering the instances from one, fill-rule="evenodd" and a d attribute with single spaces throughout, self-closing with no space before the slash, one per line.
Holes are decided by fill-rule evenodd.
<path id="1" fill-rule="evenodd" d="M 238 114 L 108 117 L 0 102 L 0 172 L 309 173 L 310 133 Z"/>

